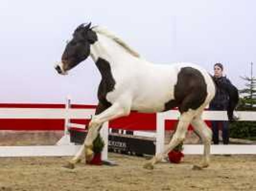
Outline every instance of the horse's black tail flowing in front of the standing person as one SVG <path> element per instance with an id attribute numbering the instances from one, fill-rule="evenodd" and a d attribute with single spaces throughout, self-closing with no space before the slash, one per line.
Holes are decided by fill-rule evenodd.
<path id="1" fill-rule="evenodd" d="M 229 101 L 228 101 L 228 107 L 227 107 L 228 119 L 229 121 L 236 120 L 234 117 L 234 110 L 239 101 L 238 89 L 231 83 L 219 83 L 215 78 L 212 77 L 212 79 L 217 88 L 222 88 L 228 93 L 229 95 Z"/>

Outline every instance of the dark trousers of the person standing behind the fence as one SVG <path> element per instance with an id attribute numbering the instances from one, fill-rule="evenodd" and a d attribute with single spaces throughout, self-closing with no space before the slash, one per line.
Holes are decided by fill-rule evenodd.
<path id="1" fill-rule="evenodd" d="M 229 144 L 229 122 L 228 121 L 211 121 L 213 131 L 213 143 L 219 144 L 219 124 L 222 127 L 223 144 Z"/>

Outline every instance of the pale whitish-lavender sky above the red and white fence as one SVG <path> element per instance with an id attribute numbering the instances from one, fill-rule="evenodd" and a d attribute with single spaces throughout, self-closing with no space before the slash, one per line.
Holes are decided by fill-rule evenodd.
<path id="1" fill-rule="evenodd" d="M 59 76 L 53 69 L 81 23 L 118 34 L 153 63 L 194 62 L 210 73 L 223 63 L 238 88 L 256 76 L 253 0 L 1 0 L 0 103 L 97 103 L 100 75 L 91 59 Z"/>

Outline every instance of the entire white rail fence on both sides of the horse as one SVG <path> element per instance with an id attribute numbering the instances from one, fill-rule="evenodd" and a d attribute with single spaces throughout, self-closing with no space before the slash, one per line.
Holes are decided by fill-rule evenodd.
<path id="1" fill-rule="evenodd" d="M 77 145 L 63 145 L 63 140 L 68 140 L 69 119 L 90 119 L 95 109 L 75 109 L 75 108 L 0 108 L 0 119 L 66 119 L 65 136 L 60 145 L 54 146 L 1 146 L 0 157 L 12 156 L 72 156 L 77 151 Z M 238 111 L 239 120 L 256 121 L 256 112 Z M 177 119 L 178 111 L 171 110 L 157 113 L 156 126 L 156 152 L 159 153 L 164 148 L 164 120 Z M 226 111 L 205 111 L 205 120 L 227 120 Z M 72 124 L 73 126 L 73 124 Z M 78 125 L 78 127 L 82 127 Z M 108 123 L 104 124 L 101 130 L 104 141 L 108 141 Z M 150 133 L 151 136 L 153 135 Z M 65 142 L 65 141 L 64 141 Z M 62 145 L 61 145 L 62 144 Z M 103 159 L 107 159 L 107 145 L 103 151 Z M 185 154 L 203 153 L 202 145 L 185 145 Z M 212 145 L 213 154 L 256 154 L 256 145 Z"/>

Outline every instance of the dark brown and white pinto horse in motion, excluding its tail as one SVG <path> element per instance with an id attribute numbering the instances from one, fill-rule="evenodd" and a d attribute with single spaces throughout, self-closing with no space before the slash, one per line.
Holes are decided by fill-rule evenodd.
<path id="1" fill-rule="evenodd" d="M 104 122 L 127 116 L 131 110 L 162 112 L 174 107 L 180 112 L 176 131 L 164 151 L 153 156 L 144 167 L 153 169 L 154 164 L 183 141 L 190 123 L 204 144 L 202 161 L 195 166 L 200 169 L 209 166 L 212 131 L 202 113 L 215 95 L 216 84 L 205 69 L 193 63 L 153 64 L 114 33 L 89 23 L 75 29 L 55 70 L 67 75 L 89 56 L 101 74 L 99 102 L 82 147 L 65 167 L 75 168 L 83 154 L 86 160 L 92 159 L 93 141 Z M 233 107 L 230 107 L 232 114 Z"/>

